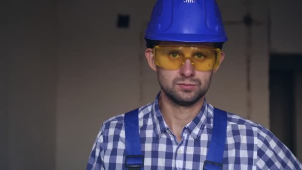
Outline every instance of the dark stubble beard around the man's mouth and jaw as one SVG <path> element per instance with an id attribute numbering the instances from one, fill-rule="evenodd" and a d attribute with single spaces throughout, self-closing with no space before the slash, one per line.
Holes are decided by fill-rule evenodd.
<path id="1" fill-rule="evenodd" d="M 170 101 L 176 105 L 188 107 L 198 102 L 207 93 L 211 84 L 212 74 L 213 73 L 211 73 L 210 78 L 204 82 L 201 82 L 199 79 L 176 78 L 172 81 L 172 85 L 168 85 L 167 80 L 161 74 L 157 75 L 157 79 L 162 91 Z M 176 84 L 185 81 L 197 84 L 198 89 L 196 91 L 176 90 Z"/>

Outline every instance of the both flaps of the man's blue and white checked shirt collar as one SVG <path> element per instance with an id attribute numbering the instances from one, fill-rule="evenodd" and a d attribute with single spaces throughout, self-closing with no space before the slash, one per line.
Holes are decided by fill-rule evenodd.
<path id="1" fill-rule="evenodd" d="M 158 104 L 159 94 L 160 92 L 156 95 L 155 101 L 153 102 L 152 109 L 151 109 L 153 126 L 158 140 L 160 139 L 161 134 L 165 130 L 169 129 L 159 109 L 159 104 Z M 187 129 L 188 134 L 191 135 L 194 139 L 199 140 L 202 131 L 205 127 L 206 120 L 208 119 L 207 117 L 209 116 L 211 116 L 211 114 L 209 113 L 209 105 L 205 100 L 198 115 L 190 123 L 188 123 L 184 127 L 184 129 Z"/>

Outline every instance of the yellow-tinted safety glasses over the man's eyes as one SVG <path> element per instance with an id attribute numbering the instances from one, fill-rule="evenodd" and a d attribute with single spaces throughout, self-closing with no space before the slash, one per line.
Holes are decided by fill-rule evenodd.
<path id="1" fill-rule="evenodd" d="M 155 64 L 166 70 L 177 70 L 187 59 L 197 71 L 211 71 L 219 66 L 221 49 L 191 45 L 156 45 Z"/>

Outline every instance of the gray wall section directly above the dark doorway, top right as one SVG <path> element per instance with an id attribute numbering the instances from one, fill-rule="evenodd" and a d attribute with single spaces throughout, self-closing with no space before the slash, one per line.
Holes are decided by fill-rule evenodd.
<path id="1" fill-rule="evenodd" d="M 302 53 L 302 0 L 270 0 L 272 52 Z"/>

